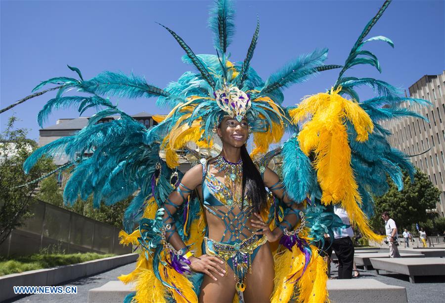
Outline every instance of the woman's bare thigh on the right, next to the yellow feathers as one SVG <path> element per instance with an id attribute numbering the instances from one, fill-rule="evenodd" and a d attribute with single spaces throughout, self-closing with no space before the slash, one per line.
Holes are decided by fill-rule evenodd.
<path id="1" fill-rule="evenodd" d="M 274 276 L 273 257 L 267 242 L 261 246 L 255 259 L 252 260 L 252 274 L 246 273 L 244 301 L 246 303 L 270 302 Z"/>

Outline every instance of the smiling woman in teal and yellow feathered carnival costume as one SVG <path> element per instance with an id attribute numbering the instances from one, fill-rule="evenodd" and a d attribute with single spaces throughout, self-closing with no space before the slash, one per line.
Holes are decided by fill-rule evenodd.
<path id="1" fill-rule="evenodd" d="M 81 114 L 91 107 L 103 109 L 83 130 L 34 152 L 24 169 L 28 172 L 42 156 L 64 152 L 70 161 L 56 172 L 73 167 L 66 203 L 93 195 L 99 207 L 102 201 L 111 205 L 134 195 L 120 233 L 122 244 L 140 248 L 134 271 L 119 277 L 135 282 L 126 302 L 324 302 L 326 264 L 314 244 L 323 245 L 324 234 L 333 239 L 333 230 L 345 227 L 331 206 L 345 209 L 364 236 L 381 240 L 367 221 L 373 213 L 371 194 L 388 190 L 387 175 L 401 189 L 401 169 L 413 174 L 379 121 L 422 118 L 401 103 L 427 101 L 400 97 L 383 81 L 344 76 L 357 64 L 380 71 L 377 57 L 363 46 L 370 41 L 393 46 L 382 36 L 364 40 L 389 3 L 365 26 L 343 66 L 323 65 L 327 49 L 315 50 L 289 61 L 266 82 L 250 67 L 259 21 L 244 61 L 229 61 L 234 11 L 228 0 L 216 1 L 209 20 L 216 55 L 196 55 L 165 27 L 185 50 L 183 60 L 196 68 L 165 89 L 113 72 L 84 80 L 79 69 L 69 67 L 79 80 L 49 79 L 35 90 L 57 86 L 4 110 L 55 89 L 56 97 L 39 112 L 40 125 L 56 108 L 76 105 Z M 331 89 L 296 107 L 281 107 L 283 88 L 337 68 L 340 75 Z M 362 85 L 374 87 L 378 95 L 360 101 L 355 88 Z M 89 96 L 64 96 L 70 88 Z M 158 106 L 172 110 L 154 116 L 158 125 L 146 129 L 105 96 L 157 96 Z M 110 115 L 120 119 L 97 124 Z M 285 130 L 291 137 L 268 151 Z M 222 150 L 212 157 L 216 135 Z M 250 135 L 254 149 L 249 155 Z M 278 155 L 282 180 L 268 168 Z M 194 166 L 182 175 L 178 166 L 185 160 Z"/>

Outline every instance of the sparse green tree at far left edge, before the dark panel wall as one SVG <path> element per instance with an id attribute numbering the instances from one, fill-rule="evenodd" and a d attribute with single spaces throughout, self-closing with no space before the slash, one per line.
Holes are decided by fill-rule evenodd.
<path id="1" fill-rule="evenodd" d="M 26 129 L 14 130 L 16 117 L 8 120 L 6 129 L 0 134 L 0 244 L 12 229 L 23 224 L 31 216 L 29 208 L 37 183 L 26 184 L 54 168 L 50 159 L 41 159 L 29 174 L 23 173 L 23 162 L 37 143 L 27 139 Z"/>

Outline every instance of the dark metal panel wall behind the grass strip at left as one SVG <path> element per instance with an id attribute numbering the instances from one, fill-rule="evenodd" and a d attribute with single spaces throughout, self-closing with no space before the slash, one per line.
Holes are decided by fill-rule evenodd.
<path id="1" fill-rule="evenodd" d="M 37 200 L 33 216 L 14 229 L 0 246 L 1 256 L 31 255 L 42 249 L 65 253 L 96 252 L 123 255 L 131 247 L 119 244 L 119 228 Z"/>

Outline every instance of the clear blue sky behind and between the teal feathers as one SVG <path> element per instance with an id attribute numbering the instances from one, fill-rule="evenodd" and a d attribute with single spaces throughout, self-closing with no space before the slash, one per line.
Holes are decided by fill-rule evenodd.
<path id="1" fill-rule="evenodd" d="M 31 93 L 52 77 L 77 77 L 66 65 L 78 67 L 89 79 L 105 71 L 145 76 L 165 87 L 192 67 L 181 62 L 183 50 L 162 23 L 181 36 L 197 54 L 215 53 L 207 28 L 212 1 L 0 1 L 0 103 L 1 108 Z M 234 61 L 244 59 L 260 16 L 260 38 L 252 66 L 266 79 L 286 61 L 317 47 L 328 47 L 326 64 L 343 64 L 365 24 L 375 15 L 379 1 L 237 1 L 236 34 L 229 51 Z M 359 66 L 349 76 L 373 77 L 407 88 L 423 75 L 440 74 L 445 68 L 445 1 L 393 1 L 368 37 L 383 35 L 395 48 L 382 42 L 368 43 L 382 66 L 379 74 Z M 298 103 L 308 94 L 330 88 L 338 71 L 284 91 L 284 105 Z M 370 90 L 363 89 L 363 97 Z M 38 139 L 36 117 L 46 93 L 1 114 L 1 130 L 12 114 L 17 127 Z M 112 99 L 117 101 L 116 99 Z M 119 100 L 129 114 L 146 111 L 167 113 L 154 106 L 154 98 Z M 87 112 L 86 116 L 92 112 Z M 46 126 L 58 118 L 78 117 L 76 109 L 56 111 Z"/>

